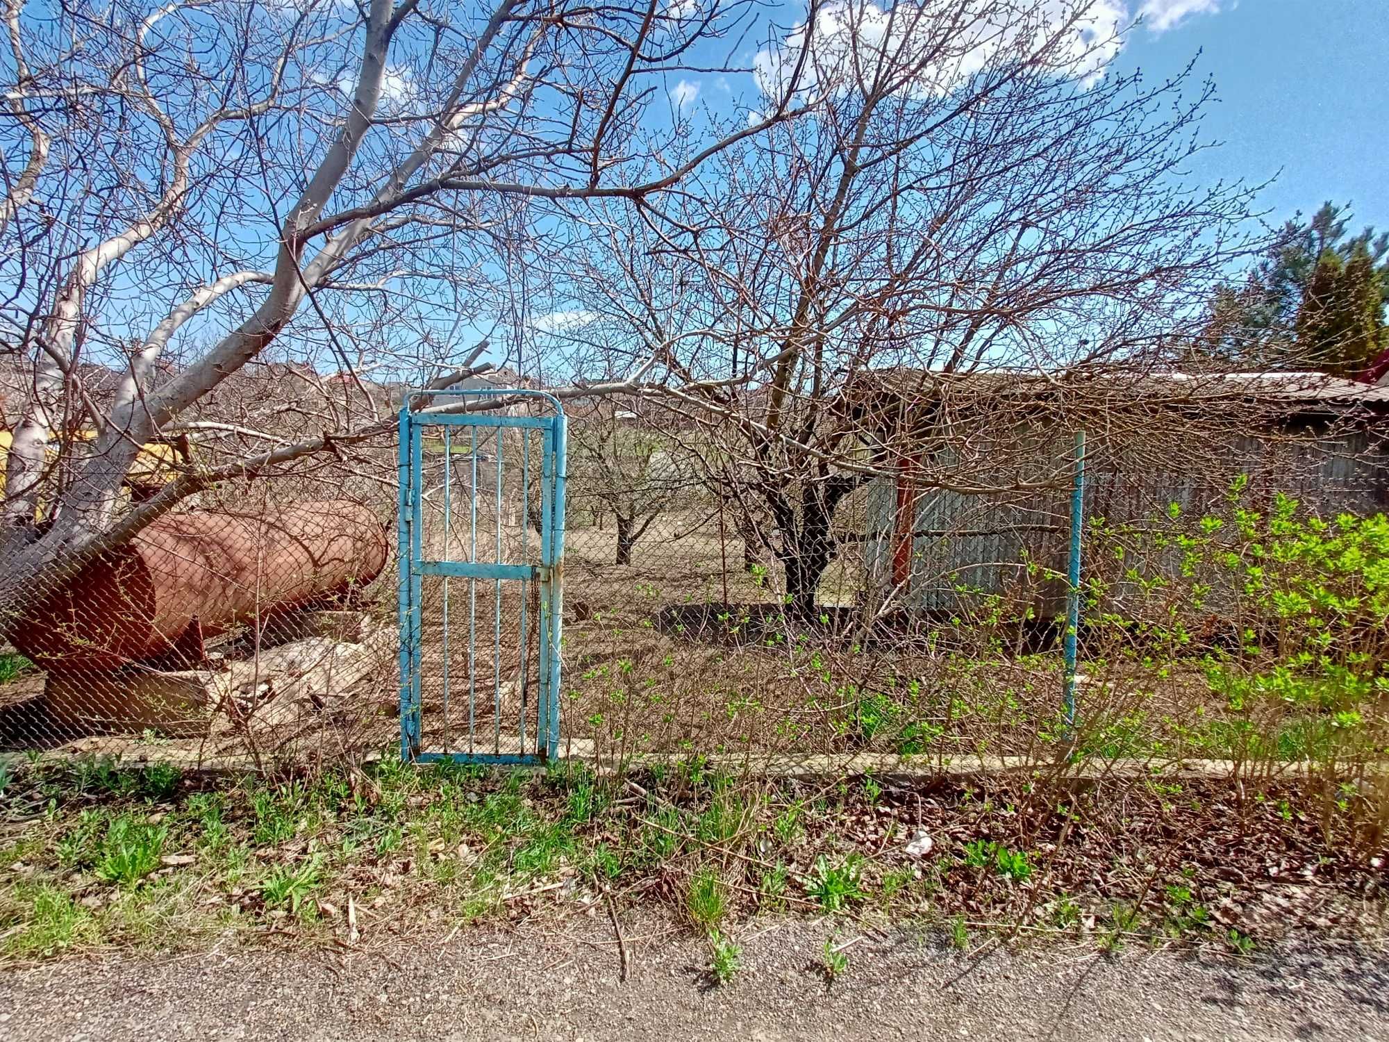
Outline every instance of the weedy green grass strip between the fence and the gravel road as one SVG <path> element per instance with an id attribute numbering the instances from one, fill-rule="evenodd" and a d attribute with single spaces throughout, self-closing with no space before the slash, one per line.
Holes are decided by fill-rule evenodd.
<path id="1" fill-rule="evenodd" d="M 1243 935 L 1217 927 L 1201 903 L 1218 884 L 1200 867 L 1163 879 L 1171 885 L 1146 895 L 1143 911 L 1151 914 L 1139 921 L 1131 911 L 1139 900 L 1132 878 L 1095 891 L 1085 877 L 1065 874 L 1065 859 L 1049 860 L 1042 873 L 1036 854 L 996 839 L 971 841 L 958 857 L 946 853 L 945 841 L 933 859 L 910 857 L 895 829 L 914 804 L 903 804 L 896 788 L 874 793 L 857 778 L 754 788 L 688 761 L 664 778 L 636 775 L 633 797 L 621 782 L 572 766 L 539 774 L 417 770 L 385 760 L 365 772 L 351 784 L 338 772 L 267 784 L 183 778 L 110 760 L 19 763 L 13 799 L 28 817 L 0 850 L 0 867 L 21 866 L 0 881 L 0 953 L 179 946 L 267 923 L 342 936 L 349 896 L 360 916 L 371 909 L 364 931 L 376 928 L 368 923 L 414 918 L 436 929 L 438 920 L 451 927 L 538 916 L 611 891 L 624 902 L 635 895 L 667 902 L 706 938 L 708 970 L 718 979 L 717 959 L 738 973 L 742 953 L 732 936 L 743 914 L 889 921 L 925 914 L 967 948 L 970 931 L 957 913 L 968 909 L 985 921 L 1015 914 L 1014 888 L 1024 882 L 1036 886 L 1039 925 L 1074 928 L 1081 902 L 1086 923 L 1097 910 L 1099 929 L 1085 934 L 1092 942 L 1178 938 L 1236 952 L 1246 945 Z M 1183 786 L 1174 793 L 1136 785 L 1133 792 L 1176 816 L 1192 797 L 1200 796 L 1201 806 L 1217 797 Z M 1290 786 L 1270 785 L 1258 796 L 1247 813 L 1275 828 L 1286 824 L 1289 836 L 1306 834 L 1306 822 L 1325 810 Z M 865 836 L 871 799 L 881 810 Z M 947 799 L 975 835 L 1029 834 L 1021 795 L 964 789 Z M 1033 803 L 1045 818 L 1057 800 L 1043 793 Z M 1064 803 L 1067 821 L 1121 828 L 1097 797 L 1071 793 Z M 1358 864 L 1329 839 L 1297 842 L 1320 842 L 1325 857 Z M 961 904 L 958 893 L 974 903 Z"/>

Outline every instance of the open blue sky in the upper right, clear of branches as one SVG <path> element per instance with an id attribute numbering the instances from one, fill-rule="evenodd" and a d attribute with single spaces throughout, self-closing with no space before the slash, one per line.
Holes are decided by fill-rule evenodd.
<path id="1" fill-rule="evenodd" d="M 1389 229 L 1389 0 L 1207 6 L 1215 10 L 1193 11 L 1164 32 L 1136 29 L 1115 61 L 1165 76 L 1200 53 L 1197 69 L 1215 79 L 1220 97 L 1206 128 L 1224 146 L 1193 172 L 1261 181 L 1281 168 L 1264 195 L 1271 220 L 1331 199 L 1354 203 L 1357 226 Z"/>

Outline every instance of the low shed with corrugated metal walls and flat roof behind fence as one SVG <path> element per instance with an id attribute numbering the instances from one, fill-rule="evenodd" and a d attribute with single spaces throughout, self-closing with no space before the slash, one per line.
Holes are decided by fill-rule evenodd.
<path id="1" fill-rule="evenodd" d="M 871 374 L 847 395 L 899 446 L 867 492 L 865 565 L 878 597 L 950 614 L 981 593 L 1063 603 L 1075 431 L 1083 511 L 1111 524 L 1251 495 L 1322 515 L 1389 508 L 1389 388 L 1321 374 Z M 1256 499 L 1256 502 L 1260 502 Z M 1026 560 L 1042 565 L 1029 570 Z M 1088 568 L 1103 567 L 1088 561 Z M 1160 564 L 1178 568 L 1178 560 Z M 1038 579 L 1050 572 L 1051 579 Z"/>

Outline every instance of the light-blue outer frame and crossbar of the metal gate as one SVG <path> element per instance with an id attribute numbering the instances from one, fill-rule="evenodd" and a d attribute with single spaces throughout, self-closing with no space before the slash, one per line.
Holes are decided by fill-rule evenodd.
<path id="1" fill-rule="evenodd" d="M 550 417 L 511 417 L 486 413 L 482 403 L 468 396 L 538 397 L 554 406 Z M 454 397 L 446 406 L 411 408 L 418 397 L 429 400 Z M 501 407 L 501 406 L 499 406 Z M 501 432 L 507 428 L 542 431 L 540 561 L 539 564 L 499 564 L 493 561 L 426 561 L 422 553 L 422 427 L 496 428 L 500 456 Z M 399 631 L 400 631 L 400 759 L 406 763 L 542 764 L 553 760 L 560 747 L 561 639 L 564 627 L 564 481 L 568 420 L 564 404 L 544 390 L 525 388 L 407 389 L 397 420 L 399 500 L 396 513 L 399 561 Z M 446 461 L 446 465 L 451 463 Z M 450 474 L 451 479 L 451 474 Z M 547 495 L 549 493 L 549 495 Z M 529 503 L 526 502 L 526 513 Z M 529 524 L 529 517 L 522 518 Z M 425 575 L 467 579 L 529 579 L 539 584 L 540 618 L 539 690 L 536 692 L 536 752 L 528 753 L 426 753 L 421 746 L 424 697 L 421 692 L 421 599 Z M 499 602 L 500 604 L 500 602 Z M 525 610 L 522 604 L 522 611 Z M 469 663 L 471 668 L 471 663 Z M 522 663 L 522 668 L 525 668 Z M 447 661 L 444 663 L 447 671 Z M 544 743 L 540 746 L 540 731 Z"/>

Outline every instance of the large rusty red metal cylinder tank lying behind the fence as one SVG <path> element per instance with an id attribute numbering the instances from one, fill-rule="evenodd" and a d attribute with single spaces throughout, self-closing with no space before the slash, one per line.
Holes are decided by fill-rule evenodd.
<path id="1" fill-rule="evenodd" d="M 365 585 L 388 553 L 385 525 L 347 500 L 165 514 L 25 611 L 10 640 L 47 670 L 115 670 Z"/>

